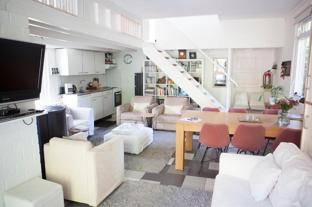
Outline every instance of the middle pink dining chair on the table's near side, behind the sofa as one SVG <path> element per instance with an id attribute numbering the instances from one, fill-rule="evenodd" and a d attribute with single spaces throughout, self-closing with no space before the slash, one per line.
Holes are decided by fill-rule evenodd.
<path id="1" fill-rule="evenodd" d="M 233 147 L 238 149 L 237 153 L 251 152 L 261 150 L 265 146 L 264 129 L 262 125 L 238 125 L 233 139 L 231 141 Z"/>

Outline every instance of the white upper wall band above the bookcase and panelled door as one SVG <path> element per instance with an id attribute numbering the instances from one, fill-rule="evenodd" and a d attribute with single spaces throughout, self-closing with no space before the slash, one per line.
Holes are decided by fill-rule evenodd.
<path id="1" fill-rule="evenodd" d="M 283 47 L 285 20 L 219 21 L 217 15 L 169 18 L 176 28 L 201 49 Z M 166 20 L 156 20 L 156 39 L 163 49 L 193 49 Z"/>

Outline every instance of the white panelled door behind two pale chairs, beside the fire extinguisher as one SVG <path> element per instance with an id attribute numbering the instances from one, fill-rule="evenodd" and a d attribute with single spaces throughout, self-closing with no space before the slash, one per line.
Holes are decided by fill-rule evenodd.
<path id="1" fill-rule="evenodd" d="M 238 83 L 238 87 L 232 85 L 232 104 L 236 92 L 247 92 L 248 101 L 251 92 L 261 92 L 264 54 L 257 53 L 234 53 L 232 78 Z"/>

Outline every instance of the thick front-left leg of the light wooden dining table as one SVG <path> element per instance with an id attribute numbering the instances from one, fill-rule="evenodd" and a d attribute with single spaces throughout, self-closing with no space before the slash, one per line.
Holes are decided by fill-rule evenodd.
<path id="1" fill-rule="evenodd" d="M 176 125 L 176 155 L 175 165 L 176 170 L 183 170 L 184 168 L 184 125 Z"/>

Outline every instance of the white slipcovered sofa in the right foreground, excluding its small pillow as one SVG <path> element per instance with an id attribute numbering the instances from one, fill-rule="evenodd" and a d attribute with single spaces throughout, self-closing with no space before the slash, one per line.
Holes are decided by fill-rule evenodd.
<path id="1" fill-rule="evenodd" d="M 269 196 L 257 203 L 251 196 L 250 174 L 263 157 L 221 153 L 211 206 L 312 206 L 312 159 L 293 143 L 280 143 L 273 157 L 282 174 Z"/>

